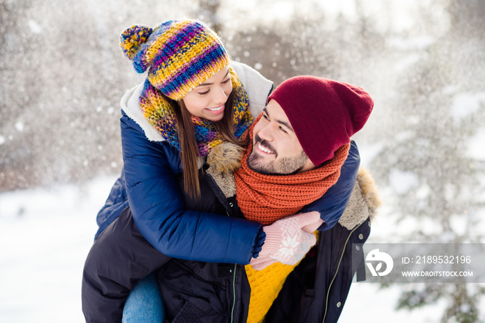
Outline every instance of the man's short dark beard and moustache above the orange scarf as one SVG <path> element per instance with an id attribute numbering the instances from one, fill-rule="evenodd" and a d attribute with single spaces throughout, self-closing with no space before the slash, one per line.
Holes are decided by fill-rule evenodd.
<path id="1" fill-rule="evenodd" d="M 291 175 L 301 171 L 308 161 L 308 156 L 303 149 L 301 150 L 300 155 L 296 157 L 283 157 L 278 159 L 278 153 L 276 150 L 274 150 L 274 148 L 272 148 L 270 143 L 258 137 L 257 134 L 255 141 L 256 145 L 260 143 L 261 146 L 275 152 L 274 160 L 264 162 L 263 156 L 259 155 L 257 152 L 254 152 L 254 149 L 256 148 L 253 146 L 253 151 L 247 157 L 247 166 L 249 166 L 249 168 L 256 173 L 265 175 Z"/>

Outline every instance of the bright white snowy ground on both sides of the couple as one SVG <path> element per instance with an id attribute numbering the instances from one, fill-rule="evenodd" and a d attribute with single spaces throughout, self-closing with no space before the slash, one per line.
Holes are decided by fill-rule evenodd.
<path id="1" fill-rule="evenodd" d="M 84 322 L 82 266 L 114 177 L 0 194 L 0 322 Z M 391 220 L 373 225 L 373 240 Z M 353 283 L 340 322 L 439 322 L 443 304 L 395 311 L 399 291 Z"/>

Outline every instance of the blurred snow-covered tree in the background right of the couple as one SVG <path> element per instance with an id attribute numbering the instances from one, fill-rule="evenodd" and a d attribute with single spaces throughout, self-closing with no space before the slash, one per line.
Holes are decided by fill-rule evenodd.
<path id="1" fill-rule="evenodd" d="M 485 168 L 473 137 L 483 132 L 485 76 L 477 73 L 483 70 L 480 59 L 469 58 L 485 53 L 485 37 L 469 31 L 484 30 L 477 17 L 485 14 L 485 6 L 482 1 L 452 1 L 448 10 L 450 33 L 409 53 L 416 59 L 398 76 L 388 127 L 392 131 L 376 157 L 376 176 L 396 194 L 394 213 L 401 220 L 416 219 L 414 231 L 400 237 L 404 241 L 481 243 L 484 235 L 476 227 L 485 206 Z M 446 299 L 442 322 L 479 322 L 483 286 L 457 278 L 454 283 L 401 288 L 398 308 Z"/>

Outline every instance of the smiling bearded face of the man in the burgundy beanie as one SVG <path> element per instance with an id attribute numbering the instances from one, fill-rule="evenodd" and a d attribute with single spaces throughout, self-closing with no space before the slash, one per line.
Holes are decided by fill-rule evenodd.
<path id="1" fill-rule="evenodd" d="M 274 100 L 266 105 L 263 117 L 254 125 L 253 150 L 247 164 L 253 171 L 268 175 L 288 175 L 315 168 L 301 148 L 283 108 Z"/>

